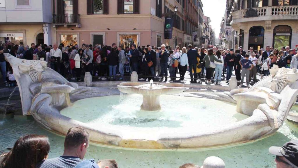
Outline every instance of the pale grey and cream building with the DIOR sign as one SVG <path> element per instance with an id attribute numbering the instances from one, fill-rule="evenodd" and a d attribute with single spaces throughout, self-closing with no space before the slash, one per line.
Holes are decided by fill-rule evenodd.
<path id="1" fill-rule="evenodd" d="M 51 6 L 49 0 L 1 0 L 0 41 L 51 44 L 52 10 L 48 8 Z"/>

